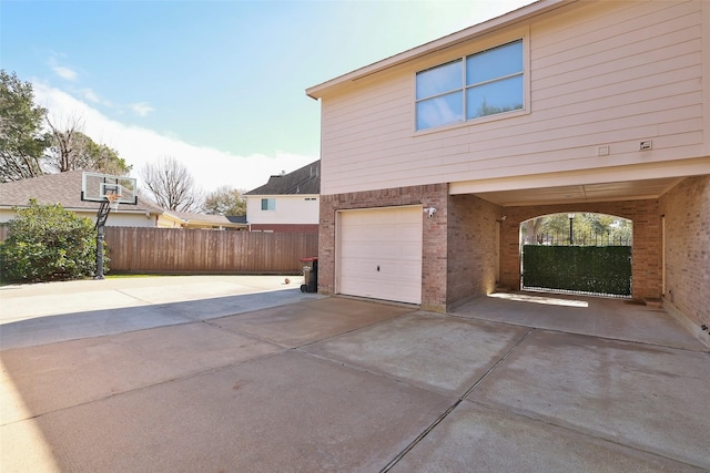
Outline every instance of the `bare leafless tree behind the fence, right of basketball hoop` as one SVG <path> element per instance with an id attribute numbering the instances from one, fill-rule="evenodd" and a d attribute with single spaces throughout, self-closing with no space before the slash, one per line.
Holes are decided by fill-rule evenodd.
<path id="1" fill-rule="evenodd" d="M 172 156 L 158 163 L 148 163 L 141 177 L 150 197 L 168 210 L 196 212 L 202 204 L 202 193 L 195 188 L 187 168 Z"/>

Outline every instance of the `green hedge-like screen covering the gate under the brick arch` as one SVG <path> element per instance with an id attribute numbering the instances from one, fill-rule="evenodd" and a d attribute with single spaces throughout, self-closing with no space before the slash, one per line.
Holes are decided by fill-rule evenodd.
<path id="1" fill-rule="evenodd" d="M 523 247 L 523 286 L 631 295 L 630 246 Z"/>

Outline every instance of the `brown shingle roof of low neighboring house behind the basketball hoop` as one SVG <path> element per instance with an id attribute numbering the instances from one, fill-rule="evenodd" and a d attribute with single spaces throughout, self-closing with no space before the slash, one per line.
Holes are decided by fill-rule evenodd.
<path id="1" fill-rule="evenodd" d="M 44 174 L 10 183 L 0 183 L 0 207 L 27 207 L 30 198 L 38 204 L 61 204 L 68 210 L 98 209 L 97 202 L 81 199 L 82 171 Z M 139 196 L 138 205 L 124 204 L 122 210 L 150 212 L 161 214 L 162 208 Z"/>

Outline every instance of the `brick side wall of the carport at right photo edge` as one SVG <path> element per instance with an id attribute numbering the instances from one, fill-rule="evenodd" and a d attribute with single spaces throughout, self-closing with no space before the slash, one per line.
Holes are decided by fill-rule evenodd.
<path id="1" fill-rule="evenodd" d="M 689 177 L 661 197 L 666 216 L 665 299 L 699 336 L 710 335 L 710 176 Z"/>

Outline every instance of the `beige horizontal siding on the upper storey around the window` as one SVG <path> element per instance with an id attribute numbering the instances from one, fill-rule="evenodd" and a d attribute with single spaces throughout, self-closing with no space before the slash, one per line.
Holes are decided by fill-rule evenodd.
<path id="1" fill-rule="evenodd" d="M 702 8 L 700 1 L 575 3 L 325 94 L 322 193 L 702 156 Z M 529 113 L 415 132 L 417 71 L 521 31 L 529 34 Z M 652 140 L 653 150 L 639 152 L 642 140 Z M 597 155 L 601 145 L 610 155 Z"/>

